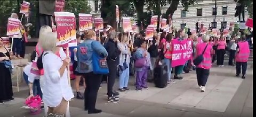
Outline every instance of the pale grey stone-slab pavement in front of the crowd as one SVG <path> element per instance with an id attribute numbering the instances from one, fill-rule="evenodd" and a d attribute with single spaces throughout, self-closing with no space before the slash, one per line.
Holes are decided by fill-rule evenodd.
<path id="1" fill-rule="evenodd" d="M 226 61 L 227 62 L 227 61 Z M 227 65 L 227 63 L 226 63 Z M 182 80 L 166 88 L 156 88 L 148 84 L 149 89 L 135 91 L 134 78 L 130 78 L 130 91 L 120 93 L 119 103 L 107 103 L 107 84 L 102 84 L 98 93 L 97 109 L 100 114 L 87 114 L 83 111 L 83 100 L 70 102 L 71 116 L 252 116 L 252 62 L 249 62 L 245 79 L 235 76 L 235 67 L 212 67 L 206 84 L 206 92 L 201 93 L 195 71 L 182 74 Z M 118 88 L 118 79 L 115 89 Z M 30 115 L 28 110 L 20 109 L 28 94 L 26 86 L 14 93 L 14 101 L 0 105 L 2 116 L 43 116 Z M 83 93 L 83 88 L 81 87 Z"/>

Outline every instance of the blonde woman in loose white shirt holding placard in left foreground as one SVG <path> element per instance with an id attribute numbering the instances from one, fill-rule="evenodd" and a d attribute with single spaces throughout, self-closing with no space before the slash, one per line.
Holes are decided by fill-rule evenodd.
<path id="1" fill-rule="evenodd" d="M 70 58 L 63 61 L 55 55 L 57 50 L 57 34 L 46 32 L 40 35 L 44 41 L 40 46 L 43 48 L 43 68 L 44 68 L 44 87 L 43 101 L 49 107 L 48 114 L 64 114 L 70 116 L 68 110 L 68 101 L 74 97 L 72 89 L 68 84 L 68 72 Z"/>

